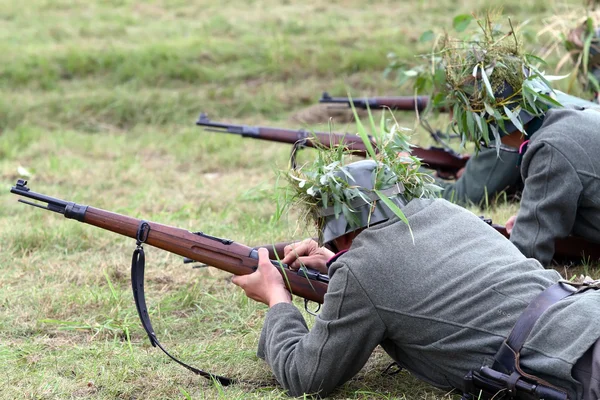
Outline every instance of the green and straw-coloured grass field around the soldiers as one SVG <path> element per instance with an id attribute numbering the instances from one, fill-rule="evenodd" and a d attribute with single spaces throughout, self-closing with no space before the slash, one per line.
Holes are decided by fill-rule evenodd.
<path id="1" fill-rule="evenodd" d="M 285 398 L 255 355 L 267 309 L 228 274 L 146 248 L 158 337 L 184 361 L 245 381 L 222 388 L 150 346 L 131 296 L 133 240 L 18 204 L 10 186 L 25 177 L 40 193 L 249 245 L 303 238 L 293 215 L 271 218 L 289 147 L 205 132 L 198 114 L 302 128 L 292 117 L 323 90 L 410 94 L 383 77 L 387 54 L 412 63 L 427 50 L 423 31 L 494 5 L 0 2 L 0 398 Z M 561 5 L 506 0 L 504 9 L 535 31 Z M 414 126 L 410 113 L 397 118 Z M 430 144 L 422 133 L 415 140 Z M 484 212 L 504 223 L 517 207 Z M 389 362 L 376 351 L 334 397 L 450 397 L 405 372 L 382 375 Z"/>

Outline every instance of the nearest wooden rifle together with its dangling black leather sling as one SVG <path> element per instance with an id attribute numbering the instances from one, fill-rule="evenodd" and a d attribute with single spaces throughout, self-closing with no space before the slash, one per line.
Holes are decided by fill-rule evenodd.
<path id="1" fill-rule="evenodd" d="M 147 243 L 235 275 L 251 274 L 256 270 L 258 264 L 258 251 L 256 248 L 250 248 L 229 239 L 206 235 L 202 232 L 189 232 L 186 229 L 148 222 L 35 193 L 27 187 L 27 181 L 21 179 L 17 181 L 17 184 L 10 191 L 11 193 L 37 200 L 42 204 L 19 199 L 22 203 L 54 211 L 63 214 L 65 218 L 75 219 L 79 222 L 136 239 L 137 248 L 133 253 L 131 264 L 131 284 L 138 314 L 152 346 L 158 346 L 171 359 L 195 374 L 216 379 L 225 385 L 231 383 L 231 380 L 228 378 L 204 372 L 179 361 L 169 354 L 158 341 L 150 323 L 146 307 L 144 295 L 145 255 L 142 245 Z M 327 275 L 306 268 L 293 271 L 286 265 L 273 260 L 271 263 L 283 275 L 287 289 L 292 294 L 303 297 L 306 301 L 323 303 L 323 297 L 327 292 L 329 282 Z"/>

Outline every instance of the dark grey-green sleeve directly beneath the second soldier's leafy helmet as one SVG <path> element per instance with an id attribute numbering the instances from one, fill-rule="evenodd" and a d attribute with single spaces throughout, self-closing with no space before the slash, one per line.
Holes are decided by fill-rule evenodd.
<path id="1" fill-rule="evenodd" d="M 483 149 L 467 161 L 465 171 L 456 182 L 438 180 L 444 199 L 460 205 L 483 205 L 486 196 L 495 196 L 519 181 L 518 154 Z"/>

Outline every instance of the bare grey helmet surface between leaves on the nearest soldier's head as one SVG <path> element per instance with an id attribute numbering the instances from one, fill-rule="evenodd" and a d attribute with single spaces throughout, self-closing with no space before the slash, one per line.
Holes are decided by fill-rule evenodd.
<path id="1" fill-rule="evenodd" d="M 397 206 L 404 206 L 407 201 L 402 195 L 404 186 L 397 183 L 394 173 L 386 165 L 379 165 L 373 160 L 357 161 L 343 167 L 344 172 L 339 172 L 338 177 L 345 180 L 352 186 L 361 188 L 363 197 L 357 196 L 352 199 L 347 206 L 355 212 L 358 217 L 359 226 L 356 226 L 339 213 L 336 217 L 334 207 L 321 209 L 319 215 L 323 217 L 323 243 L 329 243 L 346 233 L 353 232 L 360 228 L 384 222 L 396 214 L 386 206 L 373 191 L 375 181 L 378 180 L 380 187 L 378 190 L 390 198 Z M 383 175 L 381 175 L 383 174 Z M 379 175 L 379 179 L 377 176 Z M 381 179 L 383 177 L 383 179 Z M 389 179 L 386 179 L 389 178 Z M 382 182 L 388 181 L 389 184 Z M 364 189 L 364 190 L 362 190 Z M 369 200 L 368 202 L 365 199 Z"/>

